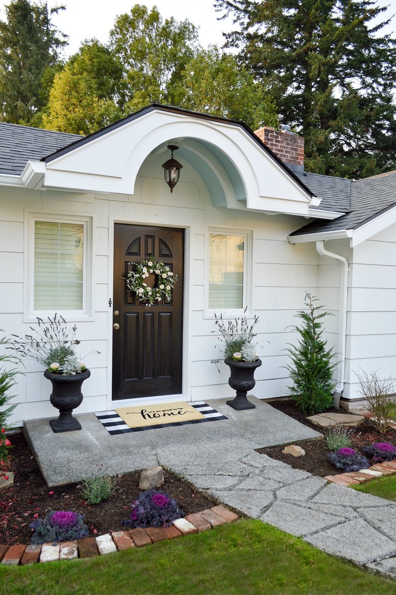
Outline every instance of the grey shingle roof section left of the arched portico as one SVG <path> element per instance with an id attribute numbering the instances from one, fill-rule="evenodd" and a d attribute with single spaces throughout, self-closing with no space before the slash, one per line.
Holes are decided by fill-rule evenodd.
<path id="1" fill-rule="evenodd" d="M 78 134 L 0 122 L 0 174 L 20 176 L 29 159 L 41 159 L 80 138 Z"/>

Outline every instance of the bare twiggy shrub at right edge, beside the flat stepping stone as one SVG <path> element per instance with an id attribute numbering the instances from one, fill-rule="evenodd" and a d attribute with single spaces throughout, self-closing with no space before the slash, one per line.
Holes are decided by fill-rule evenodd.
<path id="1" fill-rule="evenodd" d="M 373 418 L 369 418 L 369 421 L 380 434 L 385 434 L 393 421 L 395 412 L 396 397 L 392 378 L 379 378 L 377 370 L 366 372 L 362 369 L 362 374 L 356 372 L 355 374 L 359 384 L 359 394 L 367 400 L 369 411 L 374 415 Z"/>

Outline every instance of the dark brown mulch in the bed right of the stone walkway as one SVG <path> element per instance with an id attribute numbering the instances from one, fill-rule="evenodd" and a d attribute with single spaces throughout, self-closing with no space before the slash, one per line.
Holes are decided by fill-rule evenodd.
<path id="1" fill-rule="evenodd" d="M 312 424 L 310 421 L 306 419 L 305 414 L 301 414 L 298 411 L 296 405 L 294 405 L 293 401 L 291 400 L 278 400 L 272 401 L 268 403 L 278 411 L 282 411 L 282 413 L 293 417 L 293 419 L 297 419 L 301 424 L 307 425 L 309 428 L 320 432 L 323 437 L 325 436 L 325 430 L 320 428 L 319 425 Z M 329 409 L 332 413 L 347 413 L 345 409 L 336 409 L 332 408 Z M 369 446 L 373 442 L 390 442 L 391 444 L 396 445 L 396 430 L 388 430 L 386 434 L 379 434 L 378 431 L 375 430 L 373 425 L 369 421 L 364 421 L 363 424 L 358 425 L 356 428 L 353 428 L 353 448 L 360 452 L 362 455 L 364 454 L 362 451 L 363 446 Z M 282 446 L 270 446 L 267 448 L 257 449 L 257 452 L 271 456 L 272 459 L 277 459 L 278 461 L 283 461 L 287 463 L 294 469 L 301 469 L 302 471 L 308 471 L 312 475 L 319 475 L 320 477 L 325 477 L 325 475 L 337 475 L 342 473 L 342 469 L 337 469 L 334 465 L 332 465 L 328 459 L 326 458 L 326 453 L 329 452 L 328 446 L 326 444 L 326 440 L 322 439 L 313 439 L 313 440 L 301 440 L 295 441 L 293 444 L 297 444 L 301 446 L 306 452 L 304 456 L 300 456 L 298 458 L 292 455 L 284 455 L 282 450 L 284 450 L 285 445 Z"/>

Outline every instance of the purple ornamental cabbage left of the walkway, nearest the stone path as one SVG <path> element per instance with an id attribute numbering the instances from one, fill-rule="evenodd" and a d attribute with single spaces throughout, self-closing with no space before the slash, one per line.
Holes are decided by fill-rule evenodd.
<path id="1" fill-rule="evenodd" d="M 131 518 L 124 519 L 125 527 L 169 527 L 184 516 L 175 500 L 164 491 L 146 490 L 132 505 Z"/>

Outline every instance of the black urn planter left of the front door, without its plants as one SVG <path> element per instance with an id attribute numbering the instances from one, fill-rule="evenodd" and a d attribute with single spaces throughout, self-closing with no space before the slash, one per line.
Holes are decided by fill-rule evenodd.
<path id="1" fill-rule="evenodd" d="M 44 375 L 52 383 L 52 393 L 49 397 L 51 405 L 59 409 L 58 419 L 51 419 L 49 422 L 52 431 L 58 433 L 81 430 L 80 422 L 71 414 L 73 409 L 76 409 L 83 402 L 81 385 L 84 380 L 90 377 L 91 372 L 87 369 L 81 374 L 64 376 L 63 374 L 53 374 L 45 371 Z"/>

